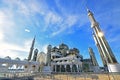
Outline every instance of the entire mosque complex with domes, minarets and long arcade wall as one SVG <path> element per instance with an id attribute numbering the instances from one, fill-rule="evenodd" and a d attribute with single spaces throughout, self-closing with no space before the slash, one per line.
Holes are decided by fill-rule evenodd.
<path id="1" fill-rule="evenodd" d="M 117 62 L 107 40 L 105 39 L 93 13 L 88 11 L 88 17 L 93 30 L 93 38 L 103 61 L 104 70 L 120 72 Z M 84 59 L 77 48 L 69 48 L 65 43 L 56 46 L 48 45 L 47 53 L 34 49 L 35 37 L 32 41 L 28 59 L 12 60 L 9 56 L 0 58 L 0 72 L 100 72 L 94 51 L 88 48 L 90 58 Z M 34 51 L 34 54 L 33 54 Z M 33 55 L 32 55 L 33 54 Z M 33 56 L 33 57 L 32 57 Z"/>

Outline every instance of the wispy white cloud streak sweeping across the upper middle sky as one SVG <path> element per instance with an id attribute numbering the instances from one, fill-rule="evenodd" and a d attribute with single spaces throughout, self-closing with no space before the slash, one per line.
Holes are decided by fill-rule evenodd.
<path id="1" fill-rule="evenodd" d="M 43 16 L 44 25 L 40 26 L 41 30 L 43 32 L 45 31 L 51 31 L 50 36 L 56 36 L 62 32 L 64 32 L 66 29 L 71 28 L 74 24 L 76 24 L 78 17 L 77 15 L 60 15 L 54 10 L 50 10 L 46 2 L 41 1 L 41 3 L 38 4 L 37 1 L 27 1 L 23 2 L 21 0 L 19 1 L 5 1 L 6 4 L 10 6 L 10 9 L 13 9 L 13 7 L 16 7 L 16 11 L 19 13 L 19 15 L 25 16 L 28 18 L 28 20 L 31 22 L 31 24 L 38 24 L 37 20 L 32 20 L 35 14 L 39 14 Z M 33 22 L 34 21 L 34 22 Z M 39 22 L 40 23 L 40 22 Z M 39 24 L 40 25 L 40 24 Z M 51 26 L 52 25 L 52 26 Z M 49 28 L 49 29 L 48 29 Z M 25 30 L 26 32 L 29 32 L 29 30 Z"/>

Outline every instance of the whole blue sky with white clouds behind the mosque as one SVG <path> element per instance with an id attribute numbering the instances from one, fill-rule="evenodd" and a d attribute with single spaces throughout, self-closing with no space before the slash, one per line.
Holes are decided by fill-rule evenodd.
<path id="1" fill-rule="evenodd" d="M 93 12 L 109 45 L 120 62 L 120 0 L 0 0 L 0 58 L 28 57 L 32 40 L 46 52 L 48 44 L 67 44 L 89 58 L 92 47 L 103 66 L 87 16 Z"/>

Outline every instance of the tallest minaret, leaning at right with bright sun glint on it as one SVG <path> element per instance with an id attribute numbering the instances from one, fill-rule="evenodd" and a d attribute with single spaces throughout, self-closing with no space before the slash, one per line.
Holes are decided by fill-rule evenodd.
<path id="1" fill-rule="evenodd" d="M 105 39 L 104 34 L 102 33 L 98 22 L 96 22 L 93 13 L 89 9 L 87 9 L 87 11 L 88 11 L 88 17 L 91 22 L 91 27 L 93 29 L 93 37 L 96 42 L 99 53 L 101 55 L 103 65 L 107 66 L 107 63 L 111 63 L 111 64 L 117 63 L 117 60 L 107 40 Z"/>

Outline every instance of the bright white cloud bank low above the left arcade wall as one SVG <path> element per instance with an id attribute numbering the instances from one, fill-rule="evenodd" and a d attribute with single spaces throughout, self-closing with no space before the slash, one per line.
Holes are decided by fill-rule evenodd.
<path id="1" fill-rule="evenodd" d="M 20 59 L 27 58 L 30 45 L 30 40 L 26 40 L 24 45 L 19 44 L 11 44 L 4 41 L 0 41 L 0 58 L 4 58 L 6 56 L 10 56 L 12 59 L 19 57 Z"/>

